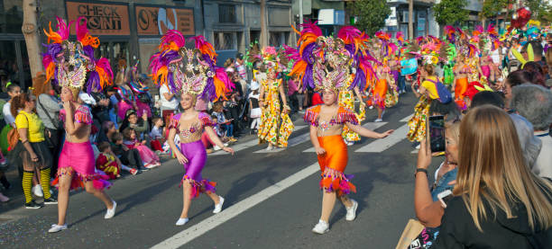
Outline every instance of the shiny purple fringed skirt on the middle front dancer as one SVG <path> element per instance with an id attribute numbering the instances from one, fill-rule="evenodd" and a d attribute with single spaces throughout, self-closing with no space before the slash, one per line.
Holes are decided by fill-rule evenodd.
<path id="1" fill-rule="evenodd" d="M 191 143 L 181 143 L 180 151 L 182 152 L 182 155 L 188 158 L 188 163 L 184 164 L 184 170 L 186 173 L 182 177 L 180 185 L 182 185 L 182 182 L 185 180 L 189 180 L 192 185 L 190 198 L 197 198 L 199 193 L 202 192 L 215 192 L 216 182 L 211 182 L 208 179 L 203 179 L 201 177 L 201 171 L 207 162 L 207 151 L 205 150 L 201 140 Z"/>

